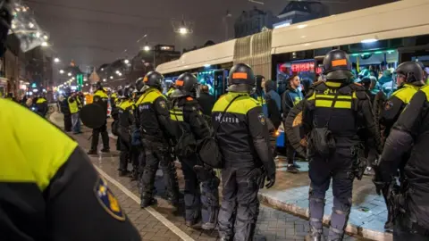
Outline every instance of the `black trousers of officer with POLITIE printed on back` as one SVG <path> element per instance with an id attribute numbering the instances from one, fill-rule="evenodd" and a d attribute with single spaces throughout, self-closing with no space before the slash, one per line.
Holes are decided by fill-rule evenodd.
<path id="1" fill-rule="evenodd" d="M 226 240 L 253 240 L 259 214 L 259 168 L 227 167 L 222 170 L 223 198 L 219 211 L 219 235 Z"/>

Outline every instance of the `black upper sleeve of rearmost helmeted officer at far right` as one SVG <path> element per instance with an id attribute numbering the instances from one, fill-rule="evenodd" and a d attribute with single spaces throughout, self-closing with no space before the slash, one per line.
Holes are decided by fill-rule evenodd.
<path id="1" fill-rule="evenodd" d="M 380 123 L 388 130 L 388 133 L 396 120 L 400 117 L 400 112 L 402 112 L 404 107 L 404 102 L 397 96 L 391 96 L 391 98 L 389 98 L 389 100 L 384 104 Z"/>

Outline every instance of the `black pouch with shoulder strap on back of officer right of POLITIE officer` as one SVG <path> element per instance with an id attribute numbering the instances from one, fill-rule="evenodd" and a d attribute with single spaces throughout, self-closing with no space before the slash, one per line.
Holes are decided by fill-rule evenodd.
<path id="1" fill-rule="evenodd" d="M 329 130 L 329 122 L 331 121 L 333 106 L 337 100 L 338 94 L 335 95 L 332 100 L 331 113 L 324 127 L 317 127 L 317 123 L 314 123 L 315 128 L 310 132 L 311 147 L 316 154 L 319 154 L 325 160 L 329 159 L 335 152 L 336 145 L 335 139 Z"/>

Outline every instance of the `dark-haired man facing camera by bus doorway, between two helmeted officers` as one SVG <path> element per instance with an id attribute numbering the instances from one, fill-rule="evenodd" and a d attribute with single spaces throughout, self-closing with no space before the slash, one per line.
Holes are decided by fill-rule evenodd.
<path id="1" fill-rule="evenodd" d="M 298 75 L 292 75 L 288 79 L 288 89 L 282 95 L 282 105 L 283 105 L 283 125 L 286 125 L 284 122 L 288 117 L 290 109 L 293 106 L 299 104 L 304 99 L 304 95 L 299 90 L 299 86 L 301 85 L 301 81 Z M 290 141 L 288 137 L 284 135 L 284 145 L 286 149 L 286 159 L 288 161 L 287 171 L 291 173 L 299 172 L 299 165 L 295 163 L 295 149 L 290 145 Z"/>

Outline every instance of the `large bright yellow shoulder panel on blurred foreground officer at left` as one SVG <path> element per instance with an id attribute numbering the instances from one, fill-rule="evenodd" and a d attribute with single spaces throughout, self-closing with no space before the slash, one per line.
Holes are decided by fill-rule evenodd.
<path id="1" fill-rule="evenodd" d="M 19 104 L 0 99 L 0 182 L 34 183 L 43 192 L 78 144 Z M 29 123 L 31 123 L 29 125 Z"/>

